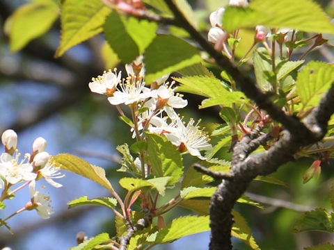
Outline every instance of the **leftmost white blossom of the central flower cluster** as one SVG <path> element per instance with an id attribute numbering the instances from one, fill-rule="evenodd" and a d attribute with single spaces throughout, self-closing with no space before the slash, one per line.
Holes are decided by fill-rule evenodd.
<path id="1" fill-rule="evenodd" d="M 122 72 L 116 74 L 116 69 L 114 71 L 115 72 L 111 72 L 109 69 L 109 71 L 104 72 L 102 76 L 92 78 L 92 81 L 88 83 L 90 91 L 97 94 L 106 94 L 106 96 L 112 97 L 122 76 Z"/>

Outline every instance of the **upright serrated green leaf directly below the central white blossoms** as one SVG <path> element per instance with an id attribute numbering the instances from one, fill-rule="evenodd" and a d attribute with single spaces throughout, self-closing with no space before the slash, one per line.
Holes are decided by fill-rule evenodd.
<path id="1" fill-rule="evenodd" d="M 171 176 L 168 185 L 177 183 L 183 174 L 183 163 L 180 152 L 167 138 L 148 134 L 148 158 L 154 176 Z"/>

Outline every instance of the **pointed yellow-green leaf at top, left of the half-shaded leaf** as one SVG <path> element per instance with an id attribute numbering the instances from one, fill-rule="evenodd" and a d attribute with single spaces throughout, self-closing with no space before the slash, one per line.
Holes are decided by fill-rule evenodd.
<path id="1" fill-rule="evenodd" d="M 100 0 L 66 0 L 61 8 L 61 44 L 55 56 L 62 56 L 67 49 L 102 32 L 110 12 Z"/>

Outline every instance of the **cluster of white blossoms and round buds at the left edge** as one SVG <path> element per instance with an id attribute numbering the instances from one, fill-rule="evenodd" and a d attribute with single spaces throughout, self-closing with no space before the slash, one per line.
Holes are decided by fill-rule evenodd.
<path id="1" fill-rule="evenodd" d="M 26 203 L 22 210 L 37 210 L 42 218 L 49 218 L 53 213 L 49 206 L 49 198 L 35 190 L 35 181 L 45 178 L 45 181 L 55 188 L 61 188 L 60 183 L 54 181 L 55 178 L 62 178 L 64 175 L 58 172 L 59 168 L 52 162 L 47 151 L 47 141 L 44 138 L 37 138 L 33 142 L 31 153 L 25 153 L 21 157 L 17 149 L 17 134 L 8 129 L 3 132 L 1 142 L 5 147 L 5 152 L 0 156 L 0 188 L 3 189 L 0 197 L 2 202 L 9 199 L 15 192 L 29 185 L 31 200 Z M 10 191 L 13 185 L 24 182 L 19 188 Z M 20 210 L 20 212 L 22 211 Z"/>

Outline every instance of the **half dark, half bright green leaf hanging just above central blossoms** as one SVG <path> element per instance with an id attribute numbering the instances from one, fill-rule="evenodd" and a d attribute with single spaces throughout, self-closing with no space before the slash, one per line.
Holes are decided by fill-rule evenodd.
<path id="1" fill-rule="evenodd" d="M 157 24 L 134 17 L 125 17 L 116 12 L 106 18 L 104 35 L 118 58 L 131 63 L 156 36 Z"/>

